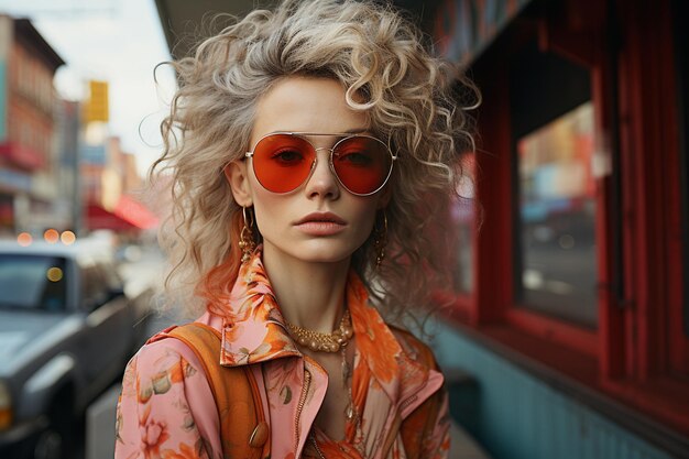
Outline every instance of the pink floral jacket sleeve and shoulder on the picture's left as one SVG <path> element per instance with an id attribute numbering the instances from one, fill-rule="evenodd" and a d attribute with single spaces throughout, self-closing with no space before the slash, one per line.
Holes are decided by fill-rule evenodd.
<path id="1" fill-rule="evenodd" d="M 221 450 L 217 408 L 203 365 L 186 343 L 167 337 L 166 330 L 149 339 L 127 365 L 118 403 L 116 457 L 131 457 L 142 449 L 182 457 L 194 445 L 205 448 L 207 456 L 200 457 L 219 457 L 214 453 Z"/>

